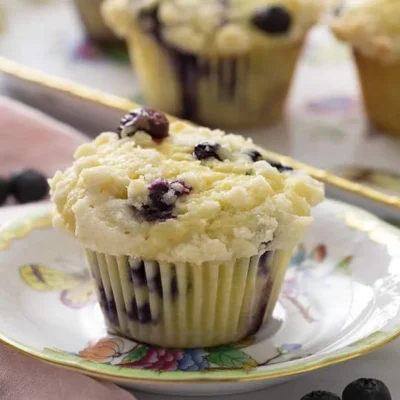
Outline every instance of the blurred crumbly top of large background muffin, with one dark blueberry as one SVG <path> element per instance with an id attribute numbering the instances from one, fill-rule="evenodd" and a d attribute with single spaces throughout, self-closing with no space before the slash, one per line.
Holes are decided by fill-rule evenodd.
<path id="1" fill-rule="evenodd" d="M 106 0 L 103 15 L 121 36 L 139 29 L 184 52 L 237 55 L 301 41 L 321 0 Z"/>

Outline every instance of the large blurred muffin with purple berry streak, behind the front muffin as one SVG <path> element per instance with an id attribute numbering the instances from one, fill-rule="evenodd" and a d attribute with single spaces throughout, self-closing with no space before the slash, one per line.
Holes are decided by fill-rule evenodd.
<path id="1" fill-rule="evenodd" d="M 103 15 L 127 40 L 148 105 L 234 129 L 281 120 L 320 9 L 320 0 L 106 0 Z"/>

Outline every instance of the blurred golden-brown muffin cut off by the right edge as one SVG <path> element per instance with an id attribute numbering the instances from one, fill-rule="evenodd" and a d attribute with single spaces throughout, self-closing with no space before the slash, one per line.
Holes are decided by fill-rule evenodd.
<path id="1" fill-rule="evenodd" d="M 364 102 L 372 124 L 400 135 L 400 1 L 353 0 L 331 25 L 354 49 Z"/>

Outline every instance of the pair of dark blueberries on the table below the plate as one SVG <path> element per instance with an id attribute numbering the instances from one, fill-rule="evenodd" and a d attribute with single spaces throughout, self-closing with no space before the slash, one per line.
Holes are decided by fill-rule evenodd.
<path id="1" fill-rule="evenodd" d="M 392 396 L 382 381 L 361 378 L 347 385 L 341 398 L 334 393 L 318 390 L 306 394 L 301 400 L 392 400 Z"/>

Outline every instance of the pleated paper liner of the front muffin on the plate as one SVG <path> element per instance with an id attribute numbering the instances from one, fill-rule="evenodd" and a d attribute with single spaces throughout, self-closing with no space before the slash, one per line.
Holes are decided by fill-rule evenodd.
<path id="1" fill-rule="evenodd" d="M 162 347 L 209 347 L 255 334 L 278 299 L 291 252 L 200 265 L 86 250 L 110 331 Z"/>

